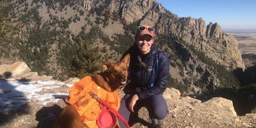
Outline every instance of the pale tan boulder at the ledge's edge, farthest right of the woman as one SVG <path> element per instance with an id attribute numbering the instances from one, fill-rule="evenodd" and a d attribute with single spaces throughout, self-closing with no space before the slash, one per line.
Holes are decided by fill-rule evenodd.
<path id="1" fill-rule="evenodd" d="M 225 111 L 228 111 L 233 114 L 233 116 L 236 115 L 236 111 L 233 107 L 233 102 L 229 99 L 224 99 L 222 97 L 214 97 L 207 102 L 204 102 L 205 105 L 210 105 L 210 106 L 217 106 L 221 109 L 224 109 Z"/>

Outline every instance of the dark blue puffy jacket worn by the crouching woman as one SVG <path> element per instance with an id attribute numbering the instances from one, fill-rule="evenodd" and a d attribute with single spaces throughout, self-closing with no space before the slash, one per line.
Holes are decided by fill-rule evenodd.
<path id="1" fill-rule="evenodd" d="M 166 89 L 169 78 L 169 59 L 163 51 L 158 51 L 155 44 L 151 45 L 148 54 L 142 55 L 134 44 L 123 55 L 122 58 L 130 54 L 129 80 L 125 86 L 124 92 L 130 95 L 137 93 L 139 99 L 145 99 L 148 96 L 163 94 Z M 153 87 L 148 87 L 154 81 L 156 74 L 156 54 L 158 54 L 158 72 Z M 143 67 L 141 61 L 147 64 L 147 68 Z"/>

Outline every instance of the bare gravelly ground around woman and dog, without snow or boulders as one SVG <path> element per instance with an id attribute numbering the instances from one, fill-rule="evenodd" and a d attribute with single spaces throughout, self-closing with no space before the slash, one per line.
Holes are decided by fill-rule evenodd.
<path id="1" fill-rule="evenodd" d="M 55 86 L 55 85 L 52 85 Z M 43 90 L 38 93 L 68 93 L 69 87 Z M 60 98 L 57 103 L 49 102 L 47 105 L 39 101 L 27 102 L 15 112 L 1 113 L 0 128 L 50 128 L 58 114 L 66 106 L 65 98 Z M 201 103 L 200 100 L 190 97 L 179 99 L 166 99 L 170 113 L 162 120 L 163 128 L 255 128 L 256 114 L 246 116 L 233 116 L 230 111 L 225 111 L 217 106 Z M 142 108 L 140 119 L 132 128 L 150 128 L 148 112 Z"/>

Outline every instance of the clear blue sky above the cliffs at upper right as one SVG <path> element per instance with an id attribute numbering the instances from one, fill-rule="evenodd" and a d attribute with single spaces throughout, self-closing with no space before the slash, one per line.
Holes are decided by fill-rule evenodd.
<path id="1" fill-rule="evenodd" d="M 202 17 L 222 29 L 256 29 L 256 0 L 157 0 L 178 17 Z"/>

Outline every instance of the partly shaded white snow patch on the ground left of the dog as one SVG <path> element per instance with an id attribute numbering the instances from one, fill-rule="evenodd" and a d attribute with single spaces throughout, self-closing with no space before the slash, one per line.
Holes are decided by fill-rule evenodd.
<path id="1" fill-rule="evenodd" d="M 12 81 L 11 81 L 12 80 Z M 65 85 L 60 81 L 30 81 L 20 82 L 15 79 L 0 81 L 1 90 L 9 90 L 7 93 L 0 93 L 0 112 L 15 111 L 21 105 L 30 102 L 32 98 L 37 98 L 39 104 L 46 105 L 48 102 L 58 102 L 68 96 L 68 93 L 45 93 L 38 94 L 43 88 L 54 89 Z M 66 84 L 70 86 L 69 84 Z"/>

